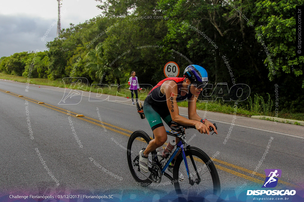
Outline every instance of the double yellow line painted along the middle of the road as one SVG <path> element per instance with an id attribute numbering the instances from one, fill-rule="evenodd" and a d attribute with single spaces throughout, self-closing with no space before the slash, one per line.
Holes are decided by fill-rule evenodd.
<path id="1" fill-rule="evenodd" d="M 95 124 L 95 125 L 100 126 L 100 127 L 104 127 L 107 130 L 111 130 L 111 131 L 117 132 L 117 133 L 125 135 L 127 137 L 130 137 L 131 134 L 133 133 L 133 131 L 129 131 L 127 129 L 124 129 L 124 128 L 121 128 L 121 127 L 117 127 L 117 126 L 109 124 L 109 123 L 98 121 L 97 119 L 94 119 L 94 118 L 90 118 L 90 117 L 86 117 L 86 116 L 85 117 L 76 117 L 77 113 L 72 112 L 72 111 L 67 111 L 66 109 L 59 108 L 59 107 L 56 107 L 56 106 L 51 105 L 51 104 L 43 103 L 41 101 L 37 101 L 37 100 L 34 100 L 32 98 L 26 98 L 26 97 L 23 97 L 22 95 L 18 95 L 18 94 L 15 94 L 15 93 L 12 93 L 12 92 L 9 92 L 9 91 L 5 91 L 5 90 L 2 90 L 2 89 L 0 89 L 0 91 L 4 92 L 4 93 L 8 93 L 10 95 L 13 95 L 15 97 L 24 99 L 26 101 L 33 102 L 35 104 L 40 103 L 40 105 L 42 105 L 44 107 L 47 107 L 49 109 L 52 109 L 52 110 L 55 110 L 55 111 L 58 111 L 58 112 L 61 112 L 61 113 L 64 113 L 64 114 L 69 115 L 69 116 L 75 115 L 75 118 L 79 118 L 79 119 L 81 119 L 83 121 L 87 121 L 88 123 Z M 69 112 L 70 114 L 68 114 L 67 112 Z M 221 160 L 215 159 L 215 158 L 213 159 L 213 161 L 217 163 L 217 164 L 215 164 L 216 169 L 219 169 L 219 170 L 222 170 L 222 171 L 226 171 L 227 173 L 234 174 L 234 175 L 236 175 L 238 177 L 242 177 L 242 178 L 244 178 L 246 180 L 253 181 L 253 182 L 257 183 L 257 184 L 264 184 L 264 180 L 265 180 L 265 175 L 264 174 L 255 173 L 254 176 L 256 178 L 255 177 L 251 177 L 251 174 L 253 173 L 253 171 L 251 171 L 251 170 L 248 170 L 246 168 L 243 168 L 243 167 L 240 167 L 240 166 L 237 166 L 237 165 L 234 165 L 234 164 L 230 164 L 228 162 L 221 161 Z M 220 166 L 219 164 L 222 164 L 222 165 L 225 165 L 225 166 L 228 166 L 228 167 L 231 167 L 231 168 L 228 169 L 226 167 Z M 233 170 L 231 170 L 231 169 L 233 169 Z M 240 172 L 242 172 L 242 173 L 240 173 Z M 243 174 L 243 173 L 245 173 L 245 174 Z M 246 175 L 247 173 L 249 173 L 250 176 Z M 258 178 L 260 178 L 260 179 L 258 179 Z M 299 187 L 299 186 L 294 185 L 294 184 L 290 184 L 290 183 L 282 181 L 282 180 L 278 180 L 278 183 L 284 184 L 285 186 L 288 186 L 288 187 L 302 188 L 302 187 Z"/>

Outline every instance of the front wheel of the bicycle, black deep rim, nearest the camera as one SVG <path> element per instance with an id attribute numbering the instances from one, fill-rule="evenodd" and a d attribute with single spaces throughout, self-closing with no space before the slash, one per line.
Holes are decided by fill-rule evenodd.
<path id="1" fill-rule="evenodd" d="M 219 175 L 216 171 L 216 167 L 211 161 L 210 157 L 201 149 L 197 147 L 188 147 L 185 151 L 189 174 L 192 180 L 198 179 L 197 174 L 201 178 L 199 184 L 189 184 L 188 174 L 186 172 L 185 162 L 182 157 L 182 153 L 178 154 L 173 167 L 173 182 L 176 194 L 188 195 L 192 197 L 205 197 L 209 194 L 219 195 L 221 188 L 219 182 Z M 190 158 L 192 154 L 193 161 L 196 165 L 196 171 L 194 169 L 192 160 Z M 178 179 L 178 172 L 184 175 L 184 180 Z"/>

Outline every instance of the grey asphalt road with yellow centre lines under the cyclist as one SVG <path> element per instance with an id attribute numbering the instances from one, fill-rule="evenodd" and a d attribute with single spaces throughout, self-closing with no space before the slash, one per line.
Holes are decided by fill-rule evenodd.
<path id="1" fill-rule="evenodd" d="M 26 86 L 0 80 L 0 193 L 107 193 L 131 200 L 143 196 L 151 200 L 174 196 L 173 185 L 141 187 L 130 175 L 125 148 L 130 134 L 138 129 L 150 136 L 152 132 L 129 99 L 109 96 L 110 101 L 102 101 L 108 96 L 97 98 L 96 94 L 83 92 L 81 101 L 79 96 L 74 96 L 63 103 L 67 89 L 39 88 L 32 84 L 27 89 Z M 85 117 L 75 117 L 75 114 Z M 187 109 L 180 108 L 180 114 L 187 117 Z M 198 114 L 215 122 L 219 134 L 208 136 L 189 129 L 188 138 L 196 136 L 188 143 L 210 157 L 218 153 L 214 163 L 223 193 L 260 189 L 265 180 L 264 169 L 282 170 L 278 187 L 303 189 L 303 126 L 240 116 L 234 120 L 233 115 L 208 111 L 198 111 Z M 233 120 L 235 125 L 227 137 Z M 270 139 L 265 160 L 254 175 L 252 171 Z M 40 156 L 45 162 L 40 161 Z M 50 171 L 52 175 L 48 174 Z"/>

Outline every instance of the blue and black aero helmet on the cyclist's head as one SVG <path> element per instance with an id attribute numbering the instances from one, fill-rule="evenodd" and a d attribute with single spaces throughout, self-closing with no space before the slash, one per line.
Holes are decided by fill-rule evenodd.
<path id="1" fill-rule="evenodd" d="M 199 65 L 189 65 L 185 68 L 184 77 L 190 79 L 191 84 L 196 84 L 204 88 L 208 83 L 208 74 L 206 69 Z"/>

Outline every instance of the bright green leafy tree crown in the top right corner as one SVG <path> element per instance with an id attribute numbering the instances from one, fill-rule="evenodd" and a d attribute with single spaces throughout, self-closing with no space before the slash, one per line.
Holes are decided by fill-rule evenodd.
<path id="1" fill-rule="evenodd" d="M 272 81 L 282 73 L 294 74 L 301 79 L 304 88 L 304 57 L 295 56 L 295 18 L 296 5 L 304 1 L 270 0 L 256 2 L 257 21 L 256 38 L 263 41 L 264 64 L 269 70 L 268 77 Z M 257 16 L 261 16 L 258 18 Z M 268 51 L 270 55 L 266 55 Z"/>

